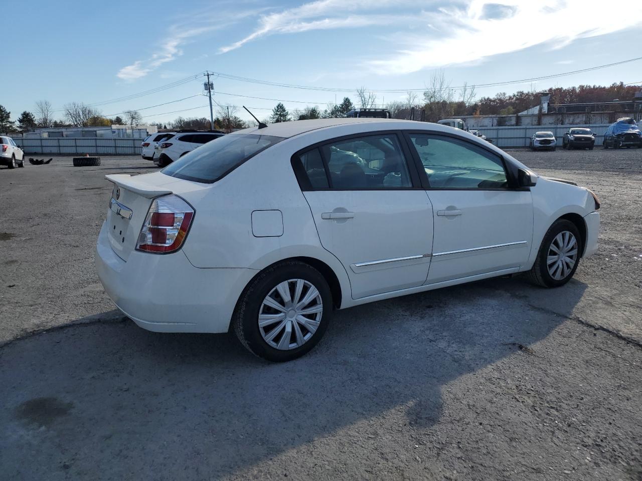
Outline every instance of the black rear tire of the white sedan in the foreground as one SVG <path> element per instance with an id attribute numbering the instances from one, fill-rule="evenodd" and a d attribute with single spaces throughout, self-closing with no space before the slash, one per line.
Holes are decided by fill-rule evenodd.
<path id="1" fill-rule="evenodd" d="M 301 287 L 298 287 L 299 282 Z M 287 289 L 284 289 L 286 286 Z M 305 300 L 308 293 L 315 292 L 311 291 L 312 288 L 316 288 L 318 295 L 300 306 L 300 310 L 320 305 L 321 312 L 306 314 L 305 318 L 309 321 L 309 326 L 315 328 L 314 331 L 306 328 L 307 323 L 303 324 L 293 318 L 296 303 L 292 304 L 291 300 L 286 300 L 280 294 L 284 292 L 293 299 L 300 290 L 299 298 Z M 272 308 L 266 301 L 284 309 Z M 241 344 L 254 355 L 274 362 L 284 362 L 308 353 L 320 341 L 330 323 L 332 308 L 332 294 L 324 276 L 303 262 L 286 261 L 267 267 L 247 285 L 234 309 L 232 328 Z M 275 319 L 265 319 L 268 324 L 259 327 L 259 314 L 273 316 Z M 305 337 L 308 339 L 304 339 Z"/>

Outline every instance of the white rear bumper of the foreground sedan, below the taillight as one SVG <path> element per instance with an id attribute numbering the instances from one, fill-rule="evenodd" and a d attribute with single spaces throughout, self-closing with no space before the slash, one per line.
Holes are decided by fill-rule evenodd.
<path id="1" fill-rule="evenodd" d="M 155 332 L 227 332 L 254 269 L 199 269 L 183 251 L 114 253 L 105 224 L 96 242 L 96 271 L 107 295 L 134 322 Z"/>

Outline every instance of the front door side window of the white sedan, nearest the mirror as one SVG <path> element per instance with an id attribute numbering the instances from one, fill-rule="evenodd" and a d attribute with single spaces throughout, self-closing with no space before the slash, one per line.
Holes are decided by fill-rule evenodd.
<path id="1" fill-rule="evenodd" d="M 464 140 L 411 133 L 431 189 L 505 189 L 501 158 Z"/>

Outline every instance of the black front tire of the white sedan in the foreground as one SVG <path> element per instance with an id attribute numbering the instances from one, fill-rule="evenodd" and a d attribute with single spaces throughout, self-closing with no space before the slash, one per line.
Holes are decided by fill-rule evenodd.
<path id="1" fill-rule="evenodd" d="M 575 237 L 575 255 L 566 256 L 573 260 L 573 265 L 569 266 L 568 262 L 560 262 L 559 259 L 557 261 L 551 259 L 551 265 L 549 266 L 549 257 L 557 257 L 551 245 L 557 246 L 558 250 L 564 249 L 564 246 L 566 245 L 564 241 L 567 239 L 566 233 Z M 559 236 L 561 236 L 561 244 Z M 555 242 L 555 244 L 553 244 L 553 242 Z M 569 241 L 569 244 L 570 246 L 568 251 L 572 253 L 573 242 Z M 560 246 L 562 249 L 559 249 Z M 567 221 L 566 219 L 557 219 L 557 221 L 550 226 L 546 235 L 544 235 L 544 239 L 542 239 L 542 244 L 539 246 L 539 251 L 537 252 L 537 258 L 535 258 L 535 264 L 533 264 L 532 269 L 530 269 L 530 272 L 528 273 L 530 280 L 542 287 L 560 287 L 560 285 L 566 284 L 571 280 L 575 271 L 577 271 L 577 266 L 580 264 L 580 253 L 582 252 L 583 246 L 584 239 L 582 239 L 582 236 L 575 224 L 571 221 Z M 549 256 L 550 253 L 553 253 L 553 255 Z M 559 272 L 557 269 L 558 265 Z M 553 274 L 551 274 L 551 269 L 553 274 L 557 274 L 560 277 L 553 276 Z"/>

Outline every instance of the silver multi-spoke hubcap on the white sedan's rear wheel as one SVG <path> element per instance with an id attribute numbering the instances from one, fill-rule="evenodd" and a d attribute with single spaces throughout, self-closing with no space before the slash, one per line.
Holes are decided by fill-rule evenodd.
<path id="1" fill-rule="evenodd" d="M 318 289 L 303 279 L 279 283 L 259 309 L 259 331 L 273 348 L 299 348 L 317 332 L 323 314 Z"/>

